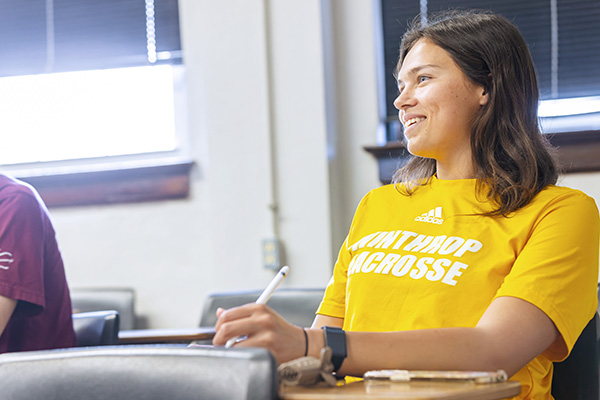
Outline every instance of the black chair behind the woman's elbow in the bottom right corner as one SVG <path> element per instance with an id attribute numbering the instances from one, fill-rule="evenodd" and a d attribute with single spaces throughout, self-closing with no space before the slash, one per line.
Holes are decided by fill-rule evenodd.
<path id="1" fill-rule="evenodd" d="M 555 400 L 597 400 L 600 398 L 598 368 L 598 313 L 575 342 L 566 360 L 554 363 L 552 396 Z"/>

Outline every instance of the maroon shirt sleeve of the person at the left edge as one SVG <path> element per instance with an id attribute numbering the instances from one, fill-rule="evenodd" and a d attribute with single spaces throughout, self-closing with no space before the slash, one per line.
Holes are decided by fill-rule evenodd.
<path id="1" fill-rule="evenodd" d="M 44 296 L 44 223 L 33 194 L 14 192 L 0 200 L 0 295 L 39 312 Z"/>

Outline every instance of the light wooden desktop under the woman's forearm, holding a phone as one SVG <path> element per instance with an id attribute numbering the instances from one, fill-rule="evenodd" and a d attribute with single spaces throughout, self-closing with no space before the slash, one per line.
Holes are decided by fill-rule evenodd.
<path id="1" fill-rule="evenodd" d="M 405 399 L 405 400 L 499 400 L 518 395 L 519 382 L 476 384 L 469 382 L 389 382 L 361 381 L 338 387 L 282 388 L 283 400 L 351 400 L 351 399 Z"/>

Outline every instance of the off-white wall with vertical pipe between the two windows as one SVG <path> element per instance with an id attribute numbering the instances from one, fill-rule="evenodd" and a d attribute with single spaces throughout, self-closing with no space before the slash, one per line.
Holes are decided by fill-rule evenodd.
<path id="1" fill-rule="evenodd" d="M 133 286 L 152 327 L 195 326 L 207 293 L 268 283 L 261 241 L 274 232 L 291 268 L 283 286 L 324 286 L 378 185 L 362 150 L 377 128 L 371 7 L 180 0 L 191 196 L 51 210 L 71 286 Z M 600 201 L 599 174 L 565 183 Z"/>

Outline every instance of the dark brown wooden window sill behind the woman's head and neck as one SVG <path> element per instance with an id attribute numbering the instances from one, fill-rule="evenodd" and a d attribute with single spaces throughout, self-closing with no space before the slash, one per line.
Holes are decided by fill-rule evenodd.
<path id="1" fill-rule="evenodd" d="M 558 148 L 558 160 L 564 173 L 600 171 L 600 131 L 556 133 L 549 138 Z M 379 180 L 383 184 L 391 182 L 394 172 L 410 156 L 400 142 L 364 149 L 377 159 Z"/>

